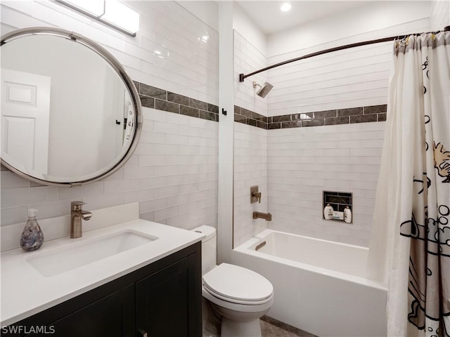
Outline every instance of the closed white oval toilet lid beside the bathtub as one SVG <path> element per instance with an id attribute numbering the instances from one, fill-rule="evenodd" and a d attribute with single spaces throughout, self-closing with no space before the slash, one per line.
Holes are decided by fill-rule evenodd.
<path id="1" fill-rule="evenodd" d="M 274 292 L 272 284 L 262 275 L 228 263 L 221 263 L 207 272 L 203 276 L 203 284 L 210 293 L 234 300 L 264 300 Z"/>

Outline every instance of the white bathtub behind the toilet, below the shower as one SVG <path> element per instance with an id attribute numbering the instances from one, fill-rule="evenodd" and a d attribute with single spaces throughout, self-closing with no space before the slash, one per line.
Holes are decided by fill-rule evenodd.
<path id="1" fill-rule="evenodd" d="M 320 337 L 382 337 L 387 289 L 364 277 L 367 253 L 360 246 L 264 230 L 234 249 L 231 262 L 274 285 L 270 317 Z"/>

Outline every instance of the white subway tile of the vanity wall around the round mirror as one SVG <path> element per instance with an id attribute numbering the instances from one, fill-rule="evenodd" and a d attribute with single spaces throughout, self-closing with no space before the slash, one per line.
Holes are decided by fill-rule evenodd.
<path id="1" fill-rule="evenodd" d="M 175 1 L 129 4 L 141 14 L 136 38 L 54 1 L 32 0 L 1 1 L 1 34 L 32 26 L 73 30 L 107 48 L 134 81 L 217 105 L 219 34 Z M 70 201 L 82 199 L 86 209 L 137 201 L 141 218 L 186 229 L 216 227 L 217 122 L 146 107 L 143 114 L 136 152 L 98 183 L 40 186 L 2 166 L 1 225 L 24 222 L 28 207 L 39 209 L 39 218 L 63 216 Z"/>

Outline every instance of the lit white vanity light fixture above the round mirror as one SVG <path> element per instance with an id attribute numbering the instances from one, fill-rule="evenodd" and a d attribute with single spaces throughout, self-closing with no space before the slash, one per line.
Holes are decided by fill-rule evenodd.
<path id="1" fill-rule="evenodd" d="M 56 0 L 132 37 L 139 31 L 139 13 L 117 0 Z"/>

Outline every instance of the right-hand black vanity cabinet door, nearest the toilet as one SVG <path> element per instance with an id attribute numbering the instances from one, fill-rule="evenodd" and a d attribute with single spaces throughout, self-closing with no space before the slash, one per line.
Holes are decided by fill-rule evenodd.
<path id="1" fill-rule="evenodd" d="M 201 296 L 195 277 L 193 254 L 136 282 L 136 328 L 141 335 L 201 336 Z"/>

